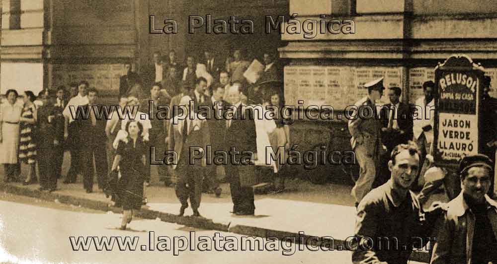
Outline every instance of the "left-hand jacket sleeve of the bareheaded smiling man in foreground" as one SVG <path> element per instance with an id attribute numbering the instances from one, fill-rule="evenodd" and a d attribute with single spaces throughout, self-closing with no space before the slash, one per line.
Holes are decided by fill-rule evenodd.
<path id="1" fill-rule="evenodd" d="M 374 203 L 362 201 L 357 208 L 357 216 L 355 218 L 355 237 L 360 243 L 361 238 L 373 238 L 376 235 L 378 221 L 377 208 Z M 352 251 L 352 262 L 354 264 L 380 264 L 381 260 L 376 256 L 374 250 L 357 250 Z"/>

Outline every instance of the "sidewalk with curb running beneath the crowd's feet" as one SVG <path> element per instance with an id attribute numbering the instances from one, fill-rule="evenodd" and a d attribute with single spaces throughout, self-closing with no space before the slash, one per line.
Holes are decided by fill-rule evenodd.
<path id="1" fill-rule="evenodd" d="M 174 189 L 164 187 L 156 177 L 152 179 L 152 186 L 145 188 L 148 204 L 142 206 L 142 210 L 137 213 L 142 218 L 160 218 L 162 221 L 198 228 L 259 237 L 274 236 L 279 239 L 285 236 L 298 238 L 299 232 L 304 232 L 305 237 L 332 237 L 334 248 L 338 250 L 343 246 L 343 241 L 354 234 L 356 211 L 354 200 L 350 196 L 350 186 L 313 185 L 304 180 L 292 179 L 287 181 L 287 190 L 283 193 L 255 195 L 255 216 L 237 216 L 230 213 L 233 204 L 229 185 L 222 184 L 223 193 L 220 198 L 213 194 L 202 195 L 199 211 L 205 218 L 196 218 L 190 217 L 191 208 L 186 209 L 185 216 L 178 217 L 176 214 L 180 204 Z M 121 212 L 121 209 L 110 206 L 110 198 L 105 198 L 101 191 L 96 191 L 96 186 L 93 187 L 94 193 L 87 194 L 81 181 L 82 179 L 78 179 L 76 184 L 62 184 L 62 180 L 59 180 L 60 190 L 53 193 L 39 192 L 37 184 L 23 186 L 20 183 L 5 184 L 1 181 L 0 191 Z M 443 199 L 439 196 L 434 198 Z M 427 204 L 430 203 L 431 201 Z M 412 259 L 427 262 L 428 254 L 417 251 L 413 253 Z"/>

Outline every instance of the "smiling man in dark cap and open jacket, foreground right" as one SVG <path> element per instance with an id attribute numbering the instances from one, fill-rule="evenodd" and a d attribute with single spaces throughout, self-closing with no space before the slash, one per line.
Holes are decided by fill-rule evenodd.
<path id="1" fill-rule="evenodd" d="M 486 195 L 493 166 L 483 154 L 461 160 L 462 191 L 436 225 L 431 264 L 497 263 L 497 203 Z"/>

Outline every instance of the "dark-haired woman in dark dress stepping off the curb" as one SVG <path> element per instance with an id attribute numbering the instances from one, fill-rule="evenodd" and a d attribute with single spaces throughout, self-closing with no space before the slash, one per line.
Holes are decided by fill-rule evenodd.
<path id="1" fill-rule="evenodd" d="M 138 121 L 130 121 L 126 124 L 128 135 L 119 140 L 112 164 L 112 171 L 119 171 L 121 175 L 117 195 L 123 207 L 121 223 L 123 230 L 133 218 L 133 209 L 139 210 L 142 206 L 147 153 L 147 144 L 141 136 L 142 131 L 143 126 Z"/>

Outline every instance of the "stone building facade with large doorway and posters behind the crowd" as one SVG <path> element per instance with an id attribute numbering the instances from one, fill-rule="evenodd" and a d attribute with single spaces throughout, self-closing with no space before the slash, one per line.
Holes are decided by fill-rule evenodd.
<path id="1" fill-rule="evenodd" d="M 487 69 L 497 87 L 497 0 L 1 0 L 1 93 L 8 88 L 41 90 L 86 79 L 117 94 L 123 62 L 136 68 L 151 63 L 155 51 L 201 56 L 209 49 L 225 58 L 243 48 L 251 58 L 278 49 L 285 61 L 287 105 L 331 105 L 337 115 L 365 96 L 361 85 L 385 76 L 385 85 L 403 88 L 402 100 L 414 102 L 433 68 L 455 53 L 467 54 Z M 251 19 L 253 34 L 188 33 L 188 16 Z M 295 14 L 294 17 L 290 15 Z M 151 34 L 165 19 L 177 21 L 176 34 Z M 265 16 L 285 23 L 265 32 Z M 324 16 L 322 16 L 324 15 Z M 290 20 L 294 18 L 295 20 Z M 323 29 L 331 20 L 352 20 L 338 34 Z M 306 22 L 307 20 L 307 22 Z M 311 22 L 310 22 L 311 21 Z M 290 24 L 299 24 L 300 33 Z M 306 29 L 303 28 L 307 25 Z M 332 26 L 333 27 L 333 26 Z M 340 27 L 336 24 L 335 28 Z M 492 91 L 496 97 L 496 91 Z M 386 98 L 384 98 L 385 100 Z M 388 99 L 386 99 L 388 100 Z M 312 149 L 333 142 L 350 149 L 346 120 L 296 121 L 292 143 Z M 319 136 L 316 136 L 319 135 Z M 328 167 L 329 168 L 329 167 Z M 328 173 L 325 169 L 323 173 Z"/>

